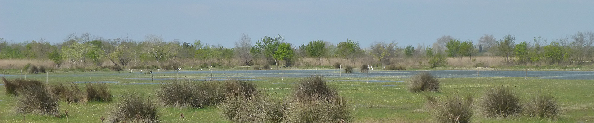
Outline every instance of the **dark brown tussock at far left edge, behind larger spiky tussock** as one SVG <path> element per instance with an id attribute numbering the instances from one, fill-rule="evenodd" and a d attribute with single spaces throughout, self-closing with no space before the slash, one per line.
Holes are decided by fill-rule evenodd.
<path id="1" fill-rule="evenodd" d="M 42 82 L 33 79 L 7 80 L 6 78 L 2 77 L 2 81 L 4 82 L 4 88 L 6 88 L 5 92 L 7 96 L 18 96 L 18 90 L 22 89 L 45 87 Z"/>

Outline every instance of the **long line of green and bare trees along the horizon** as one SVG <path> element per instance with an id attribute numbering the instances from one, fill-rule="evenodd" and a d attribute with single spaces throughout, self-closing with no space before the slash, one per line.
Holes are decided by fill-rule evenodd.
<path id="1" fill-rule="evenodd" d="M 447 57 L 498 56 L 510 64 L 584 64 L 591 63 L 594 55 L 594 33 L 578 32 L 550 42 L 542 37 L 516 43 L 514 35 L 504 35 L 497 40 L 493 35 L 484 35 L 478 41 L 459 40 L 444 35 L 432 46 L 407 44 L 397 46 L 395 41 L 375 41 L 362 48 L 358 41 L 347 39 L 338 44 L 314 40 L 301 45 L 285 42 L 282 34 L 251 40 L 242 34 L 235 47 L 221 44 L 205 44 L 200 40 L 187 43 L 180 40 L 165 41 L 161 35 L 146 35 L 144 40 L 132 38 L 105 39 L 89 33 L 68 35 L 61 43 L 50 44 L 45 39 L 8 43 L 0 38 L 0 59 L 45 59 L 52 60 L 56 67 L 67 62 L 70 66 L 93 64 L 103 66 L 106 61 L 115 66 L 128 67 L 129 63 L 165 63 L 175 60 L 201 61 L 204 64 L 220 65 L 235 60 L 234 66 L 273 64 L 292 66 L 302 58 L 339 58 L 355 60 L 374 59 L 383 66 L 396 63 L 396 59 L 422 58 L 430 66 L 444 66 Z M 261 62 L 258 62 L 261 61 Z M 321 63 L 321 62 L 320 62 Z M 109 65 L 112 65 L 109 64 Z M 321 66 L 322 64 L 317 64 Z"/>

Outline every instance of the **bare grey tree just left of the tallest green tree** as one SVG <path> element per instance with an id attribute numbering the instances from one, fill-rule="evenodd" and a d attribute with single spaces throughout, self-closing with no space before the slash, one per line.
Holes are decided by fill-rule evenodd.
<path id="1" fill-rule="evenodd" d="M 247 34 L 241 34 L 241 39 L 235 42 L 235 56 L 241 60 L 242 64 L 249 66 L 252 62 L 252 55 L 249 50 L 252 48 L 252 38 Z"/>

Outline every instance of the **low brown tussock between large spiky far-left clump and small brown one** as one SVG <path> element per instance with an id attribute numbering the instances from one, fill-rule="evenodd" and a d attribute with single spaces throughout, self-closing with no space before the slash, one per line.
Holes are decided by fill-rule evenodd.
<path id="1" fill-rule="evenodd" d="M 57 85 L 50 86 L 49 90 L 53 95 L 58 96 L 59 99 L 67 103 L 82 103 L 87 101 L 83 90 L 72 82 L 67 85 L 59 82 Z"/>

